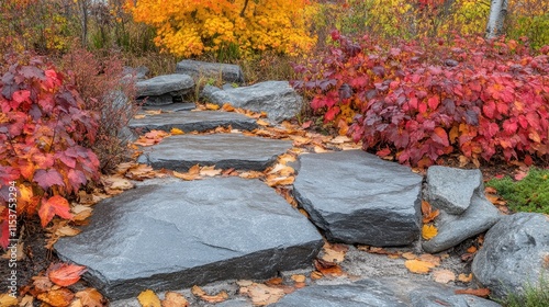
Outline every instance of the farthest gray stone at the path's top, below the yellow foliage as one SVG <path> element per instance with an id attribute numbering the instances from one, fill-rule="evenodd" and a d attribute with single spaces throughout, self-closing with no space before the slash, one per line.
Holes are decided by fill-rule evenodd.
<path id="1" fill-rule="evenodd" d="M 238 65 L 208 62 L 186 59 L 177 64 L 176 73 L 189 75 L 193 78 L 211 78 L 229 83 L 244 83 L 244 73 Z"/>

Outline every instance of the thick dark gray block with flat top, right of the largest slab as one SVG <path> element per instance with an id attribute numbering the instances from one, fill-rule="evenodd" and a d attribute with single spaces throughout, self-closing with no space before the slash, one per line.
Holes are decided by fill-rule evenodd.
<path id="1" fill-rule="evenodd" d="M 362 150 L 300 157 L 294 194 L 332 241 L 408 245 L 421 227 L 422 177 Z"/>

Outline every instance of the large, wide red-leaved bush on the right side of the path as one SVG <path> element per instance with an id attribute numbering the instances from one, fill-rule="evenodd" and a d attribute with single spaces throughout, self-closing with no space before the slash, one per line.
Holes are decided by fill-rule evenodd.
<path id="1" fill-rule="evenodd" d="M 337 47 L 296 66 L 295 88 L 312 93 L 325 122 L 352 125 L 363 149 L 427 167 L 450 152 L 524 160 L 549 154 L 549 46 L 530 55 L 517 42 L 400 42 L 383 48 L 333 32 Z M 348 112 L 348 110 L 352 112 Z M 341 112 L 347 110 L 347 112 Z"/>

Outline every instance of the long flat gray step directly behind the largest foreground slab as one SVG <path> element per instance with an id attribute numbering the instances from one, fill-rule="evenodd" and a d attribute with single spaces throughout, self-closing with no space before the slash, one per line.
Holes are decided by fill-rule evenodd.
<path id="1" fill-rule="evenodd" d="M 146 148 L 137 161 L 176 171 L 187 171 L 195 164 L 262 171 L 290 148 L 291 140 L 242 134 L 177 135 Z"/>

